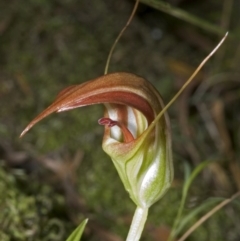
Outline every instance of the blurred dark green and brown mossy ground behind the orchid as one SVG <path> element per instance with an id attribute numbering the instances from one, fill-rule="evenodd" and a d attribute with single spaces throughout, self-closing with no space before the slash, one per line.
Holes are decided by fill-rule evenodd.
<path id="1" fill-rule="evenodd" d="M 117 44 L 109 72 L 143 76 L 165 103 L 230 32 L 169 109 L 175 180 L 150 209 L 141 239 L 166 241 L 184 166 L 215 161 L 194 181 L 185 213 L 240 189 L 240 2 L 153 1 L 168 8 L 143 2 Z M 97 120 L 103 107 L 53 114 L 22 139 L 19 134 L 63 88 L 103 75 L 134 3 L 0 1 L 0 240 L 65 240 L 84 218 L 90 221 L 82 240 L 125 240 L 135 207 L 101 148 L 103 127 Z M 187 240 L 240 240 L 239 211 L 238 199 Z"/>

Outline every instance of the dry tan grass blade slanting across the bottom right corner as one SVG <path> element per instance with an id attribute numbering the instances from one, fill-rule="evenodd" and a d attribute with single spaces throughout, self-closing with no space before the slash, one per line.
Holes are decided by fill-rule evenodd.
<path id="1" fill-rule="evenodd" d="M 228 198 L 221 203 L 219 203 L 216 207 L 206 213 L 203 217 L 201 217 L 191 228 L 187 230 L 187 232 L 178 240 L 184 241 L 194 230 L 196 230 L 202 223 L 204 223 L 208 218 L 210 218 L 215 212 L 223 208 L 225 205 L 233 201 L 235 198 L 240 196 L 240 192 L 235 193 L 231 198 Z"/>

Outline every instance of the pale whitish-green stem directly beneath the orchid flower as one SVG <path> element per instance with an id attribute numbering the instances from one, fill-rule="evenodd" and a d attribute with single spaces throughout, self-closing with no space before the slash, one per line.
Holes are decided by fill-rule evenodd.
<path id="1" fill-rule="evenodd" d="M 126 241 L 138 241 L 147 220 L 148 208 L 137 207 Z"/>

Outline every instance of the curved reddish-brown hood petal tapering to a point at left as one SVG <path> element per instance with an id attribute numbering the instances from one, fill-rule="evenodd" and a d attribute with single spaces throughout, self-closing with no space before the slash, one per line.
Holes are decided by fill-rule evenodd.
<path id="1" fill-rule="evenodd" d="M 53 112 L 93 104 L 115 103 L 131 106 L 141 111 L 150 123 L 161 110 L 161 102 L 156 89 L 145 79 L 130 73 L 112 73 L 61 91 L 55 101 L 34 118 L 20 136 Z"/>

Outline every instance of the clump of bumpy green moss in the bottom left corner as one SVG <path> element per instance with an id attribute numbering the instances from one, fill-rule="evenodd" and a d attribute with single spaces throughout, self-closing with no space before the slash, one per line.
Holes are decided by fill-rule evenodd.
<path id="1" fill-rule="evenodd" d="M 63 197 L 29 179 L 21 170 L 0 166 L 1 240 L 64 240 L 72 226 L 62 217 Z"/>

